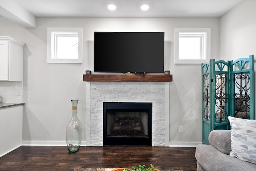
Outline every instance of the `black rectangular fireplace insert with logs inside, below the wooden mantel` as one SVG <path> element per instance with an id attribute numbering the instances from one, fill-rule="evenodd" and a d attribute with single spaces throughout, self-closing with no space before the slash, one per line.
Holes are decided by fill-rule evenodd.
<path id="1" fill-rule="evenodd" d="M 152 146 L 152 103 L 103 102 L 103 145 Z"/>

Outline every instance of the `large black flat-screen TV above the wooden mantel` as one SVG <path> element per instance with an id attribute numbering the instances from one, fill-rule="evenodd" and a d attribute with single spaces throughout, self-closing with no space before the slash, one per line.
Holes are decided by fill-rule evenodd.
<path id="1" fill-rule="evenodd" d="M 94 72 L 163 73 L 164 32 L 94 32 Z"/>

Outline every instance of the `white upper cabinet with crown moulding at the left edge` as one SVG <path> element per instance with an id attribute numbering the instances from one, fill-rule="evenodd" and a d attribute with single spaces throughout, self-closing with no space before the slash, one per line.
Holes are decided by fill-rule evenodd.
<path id="1" fill-rule="evenodd" d="M 0 37 L 0 81 L 23 80 L 23 46 L 11 37 Z"/>

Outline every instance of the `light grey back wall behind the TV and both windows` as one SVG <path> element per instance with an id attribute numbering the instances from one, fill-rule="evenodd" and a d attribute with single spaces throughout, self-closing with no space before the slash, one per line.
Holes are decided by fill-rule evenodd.
<path id="1" fill-rule="evenodd" d="M 37 18 L 35 29 L 22 28 L 0 17 L 0 36 L 12 36 L 24 46 L 24 144 L 65 145 L 71 117 L 70 99 L 79 99 L 78 117 L 86 123 L 85 70 L 93 71 L 93 32 L 165 32 L 164 70 L 170 82 L 170 145 L 202 142 L 200 64 L 174 64 L 174 28 L 211 28 L 211 56 L 218 59 L 218 18 Z M 83 64 L 46 63 L 47 27 L 82 27 Z M 178 126 L 184 132 L 178 132 Z M 84 130 L 85 132 L 85 130 Z M 83 141 L 86 141 L 84 136 Z"/>

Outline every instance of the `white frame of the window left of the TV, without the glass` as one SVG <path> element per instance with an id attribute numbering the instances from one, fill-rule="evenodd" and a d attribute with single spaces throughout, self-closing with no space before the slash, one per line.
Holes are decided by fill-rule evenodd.
<path id="1" fill-rule="evenodd" d="M 72 36 L 78 33 L 78 59 L 56 58 L 56 37 L 60 34 Z M 47 63 L 83 63 L 83 28 L 47 28 Z"/>

